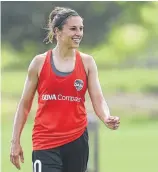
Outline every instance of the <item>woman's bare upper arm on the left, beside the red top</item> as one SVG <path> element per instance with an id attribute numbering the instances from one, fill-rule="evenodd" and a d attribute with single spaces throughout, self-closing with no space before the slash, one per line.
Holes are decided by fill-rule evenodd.
<path id="1" fill-rule="evenodd" d="M 38 84 L 38 60 L 35 57 L 29 65 L 28 73 L 24 83 L 21 101 L 30 104 L 36 92 Z"/>

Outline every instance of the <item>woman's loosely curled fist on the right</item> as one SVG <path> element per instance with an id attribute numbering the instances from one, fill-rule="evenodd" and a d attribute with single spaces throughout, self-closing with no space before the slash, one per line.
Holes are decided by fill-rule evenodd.
<path id="1" fill-rule="evenodd" d="M 105 125 L 112 130 L 116 130 L 120 124 L 120 118 L 117 116 L 110 116 L 104 121 Z"/>

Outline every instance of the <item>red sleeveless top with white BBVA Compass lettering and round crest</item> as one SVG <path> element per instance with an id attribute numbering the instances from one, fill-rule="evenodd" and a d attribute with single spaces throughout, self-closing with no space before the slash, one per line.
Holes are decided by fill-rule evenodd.
<path id="1" fill-rule="evenodd" d="M 38 81 L 38 109 L 32 133 L 33 150 L 55 148 L 79 138 L 87 127 L 87 75 L 76 51 L 73 72 L 58 76 L 49 50 Z"/>

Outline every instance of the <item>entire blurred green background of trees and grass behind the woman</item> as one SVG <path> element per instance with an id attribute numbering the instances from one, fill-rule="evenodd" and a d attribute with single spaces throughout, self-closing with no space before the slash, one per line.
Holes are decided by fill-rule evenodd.
<path id="1" fill-rule="evenodd" d="M 13 117 L 32 58 L 53 48 L 43 40 L 54 6 L 75 9 L 84 18 L 80 50 L 96 60 L 99 79 L 112 115 L 121 118 L 119 130 L 99 120 L 97 172 L 158 171 L 158 2 L 1 2 L 2 171 L 16 172 L 9 160 Z M 22 134 L 25 163 L 31 167 L 31 132 L 35 97 Z M 87 111 L 93 109 L 89 97 Z M 92 149 L 89 165 L 96 156 Z"/>

